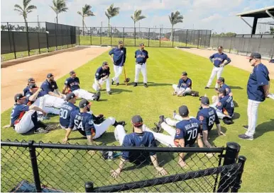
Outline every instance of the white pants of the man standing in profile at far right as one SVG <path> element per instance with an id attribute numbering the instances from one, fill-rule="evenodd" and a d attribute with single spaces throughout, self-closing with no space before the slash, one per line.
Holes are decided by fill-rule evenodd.
<path id="1" fill-rule="evenodd" d="M 248 99 L 247 115 L 248 115 L 248 130 L 247 136 L 253 136 L 255 134 L 257 119 L 258 119 L 258 107 L 261 102 Z"/>

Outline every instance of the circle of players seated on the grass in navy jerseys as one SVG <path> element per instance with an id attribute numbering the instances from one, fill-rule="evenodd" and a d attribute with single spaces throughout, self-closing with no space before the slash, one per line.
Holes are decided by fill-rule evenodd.
<path id="1" fill-rule="evenodd" d="M 104 66 L 104 64 L 103 64 Z M 97 75 L 95 75 L 96 78 Z M 77 81 L 75 81 L 77 79 Z M 75 84 L 77 82 L 78 84 Z M 71 84 L 72 83 L 72 84 Z M 69 140 L 70 133 L 73 130 L 79 131 L 83 136 L 87 137 L 88 144 L 94 144 L 94 139 L 99 138 L 112 125 L 114 129 L 114 137 L 121 146 L 156 146 L 155 140 L 160 144 L 172 147 L 194 146 L 197 142 L 199 147 L 212 147 L 209 143 L 209 133 L 214 126 L 217 125 L 217 132 L 224 135 L 221 131 L 219 119 L 234 115 L 234 102 L 232 92 L 229 86 L 224 83 L 224 78 L 217 80 L 219 88 L 218 96 L 212 98 L 213 103 L 209 105 L 209 98 L 206 96 L 200 98 L 201 103 L 197 117 L 190 117 L 187 106 L 179 107 L 179 114 L 173 113 L 172 119 L 161 115 L 159 122 L 155 124 L 155 128 L 149 129 L 143 124 L 140 115 L 133 116 L 131 124 L 133 132 L 126 134 L 124 129 L 125 122 L 117 122 L 114 117 L 104 119 L 104 115 L 94 115 L 92 113 L 91 103 L 89 100 L 99 100 L 100 93 L 89 93 L 87 90 L 80 88 L 79 78 L 75 71 L 70 71 L 70 78 L 65 81 L 62 93 L 58 90 L 57 83 L 54 81 L 53 74 L 48 74 L 47 79 L 42 83 L 40 88 L 36 86 L 33 78 L 28 79 L 28 86 L 23 93 L 15 96 L 16 104 L 11 112 L 11 124 L 7 127 L 13 127 L 19 134 L 24 134 L 30 130 L 35 133 L 47 133 L 51 129 L 56 129 L 59 125 L 65 129 L 65 138 L 62 140 L 66 143 Z M 182 73 L 179 84 L 174 88 L 177 95 L 185 95 L 191 90 L 192 81 L 187 77 L 187 73 Z M 65 90 L 70 88 L 67 95 Z M 75 105 L 76 98 L 82 98 L 79 106 Z M 45 115 L 52 113 L 60 116 L 60 124 L 46 125 L 41 120 L 48 119 Z M 168 132 L 168 135 L 160 133 L 161 130 Z M 89 151 L 93 154 L 94 151 Z M 136 164 L 143 163 L 150 157 L 154 167 L 161 175 L 165 175 L 167 171 L 158 165 L 158 159 L 155 152 L 148 152 L 146 155 L 140 156 L 140 152 L 121 153 L 121 162 L 119 168 L 111 173 L 111 176 L 118 177 L 124 168 L 126 161 Z M 185 167 L 184 153 L 180 153 L 178 164 Z M 207 156 L 210 156 L 207 154 Z M 142 160 L 142 158 L 144 160 Z"/>

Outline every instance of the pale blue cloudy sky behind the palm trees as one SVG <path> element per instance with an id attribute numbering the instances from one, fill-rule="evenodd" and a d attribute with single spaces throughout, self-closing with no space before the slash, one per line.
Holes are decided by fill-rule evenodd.
<path id="1" fill-rule="evenodd" d="M 141 27 L 153 28 L 156 26 L 160 28 L 163 26 L 170 28 L 168 15 L 172 11 L 180 11 L 184 16 L 184 22 L 175 25 L 175 28 L 213 29 L 217 33 L 251 33 L 251 28 L 243 23 L 236 13 L 274 5 L 273 0 L 67 0 L 69 11 L 60 14 L 59 23 L 82 25 L 82 18 L 77 14 L 77 11 L 82 11 L 84 4 L 90 4 L 96 16 L 86 18 L 86 25 L 101 26 L 102 22 L 106 26 L 107 18 L 104 11 L 112 3 L 121 9 L 119 16 L 111 19 L 112 26 L 132 28 L 133 21 L 130 16 L 134 10 L 141 9 L 143 15 L 147 17 L 141 21 Z M 22 4 L 22 0 L 1 1 L 1 22 L 23 21 L 23 18 L 13 11 L 14 4 Z M 32 0 L 31 4 L 37 6 L 38 9 L 28 15 L 28 21 L 37 21 L 37 16 L 40 21 L 55 21 L 55 13 L 50 8 L 52 0 Z M 252 24 L 251 18 L 246 20 Z M 261 30 L 268 29 L 262 25 Z"/>

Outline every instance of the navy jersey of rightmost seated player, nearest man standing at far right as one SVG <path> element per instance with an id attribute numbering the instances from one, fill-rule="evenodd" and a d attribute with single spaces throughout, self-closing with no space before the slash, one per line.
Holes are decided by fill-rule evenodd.
<path id="1" fill-rule="evenodd" d="M 233 98 L 229 95 L 219 98 L 219 103 L 217 104 L 217 110 L 224 113 L 224 115 L 233 116 L 234 113 L 234 102 Z"/>

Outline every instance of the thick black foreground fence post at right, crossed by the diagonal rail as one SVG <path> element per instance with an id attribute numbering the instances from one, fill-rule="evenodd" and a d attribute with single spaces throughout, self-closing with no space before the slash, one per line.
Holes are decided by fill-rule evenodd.
<path id="1" fill-rule="evenodd" d="M 230 165 L 236 163 L 236 159 L 238 158 L 240 148 L 241 146 L 234 142 L 226 143 L 226 154 L 224 155 L 223 165 Z M 221 180 L 219 182 L 217 192 L 229 192 L 229 178 L 230 176 L 228 174 L 221 173 Z"/>

